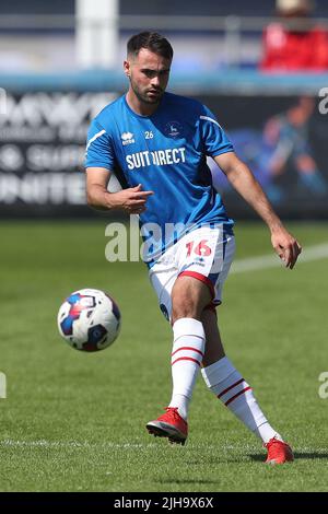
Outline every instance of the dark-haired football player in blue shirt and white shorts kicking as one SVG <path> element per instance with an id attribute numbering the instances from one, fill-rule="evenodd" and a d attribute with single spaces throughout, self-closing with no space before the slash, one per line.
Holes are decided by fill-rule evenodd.
<path id="1" fill-rule="evenodd" d="M 234 235 L 207 156 L 267 223 L 272 246 L 288 268 L 294 267 L 301 246 L 214 115 L 195 100 L 165 92 L 172 55 L 159 34 L 129 40 L 124 62 L 129 90 L 93 120 L 86 147 L 89 205 L 139 214 L 150 280 L 173 327 L 172 399 L 147 429 L 185 444 L 189 401 L 201 367 L 210 390 L 261 439 L 267 462 L 282 464 L 293 460 L 292 451 L 269 424 L 220 339 L 214 307 L 233 259 Z M 117 192 L 107 190 L 113 173 L 124 186 Z"/>

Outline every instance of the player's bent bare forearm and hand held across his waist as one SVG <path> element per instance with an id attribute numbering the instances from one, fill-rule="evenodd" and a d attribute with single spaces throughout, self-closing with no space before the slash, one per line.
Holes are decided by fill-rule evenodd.
<path id="1" fill-rule="evenodd" d="M 142 191 L 141 184 L 117 192 L 107 190 L 110 171 L 105 167 L 86 168 L 86 199 L 87 205 L 98 210 L 119 209 L 128 214 L 141 214 L 145 210 L 145 202 L 153 191 Z"/>

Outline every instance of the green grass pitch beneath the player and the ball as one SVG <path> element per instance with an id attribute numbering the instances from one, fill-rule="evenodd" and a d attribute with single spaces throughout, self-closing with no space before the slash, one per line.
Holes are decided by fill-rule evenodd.
<path id="1" fill-rule="evenodd" d="M 171 329 L 143 264 L 109 264 L 105 221 L 1 223 L 1 491 L 325 491 L 328 483 L 328 262 L 231 274 L 219 319 L 225 350 L 296 460 L 263 464 L 260 442 L 199 377 L 185 447 L 144 425 L 171 395 Z M 289 223 L 306 248 L 327 224 Z M 262 224 L 236 226 L 236 259 L 270 254 Z M 59 337 L 62 300 L 107 290 L 122 313 L 112 348 Z"/>

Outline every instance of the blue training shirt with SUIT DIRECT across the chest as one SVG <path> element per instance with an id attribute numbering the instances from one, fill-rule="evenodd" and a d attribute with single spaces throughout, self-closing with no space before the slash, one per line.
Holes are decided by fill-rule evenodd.
<path id="1" fill-rule="evenodd" d="M 216 223 L 232 227 L 207 165 L 207 155 L 226 152 L 233 152 L 231 141 L 196 100 L 164 93 L 155 113 L 141 116 L 124 95 L 92 121 L 85 166 L 112 171 L 122 187 L 141 184 L 154 191 L 140 215 L 151 266 L 186 231 Z"/>

